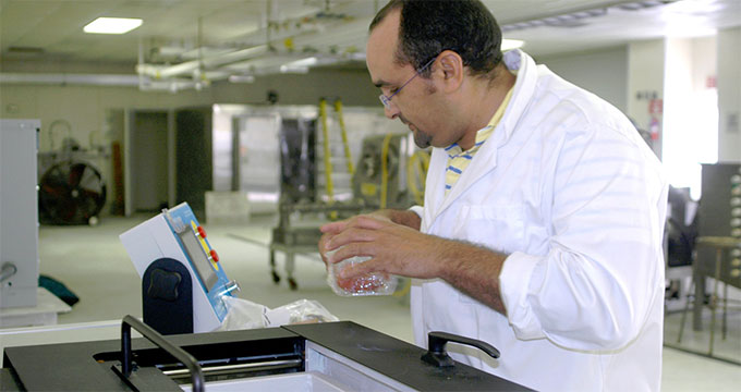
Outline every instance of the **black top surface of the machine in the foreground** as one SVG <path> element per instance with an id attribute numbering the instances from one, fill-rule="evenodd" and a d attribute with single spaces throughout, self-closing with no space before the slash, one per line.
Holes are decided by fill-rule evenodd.
<path id="1" fill-rule="evenodd" d="M 351 321 L 171 335 L 168 340 L 199 362 L 301 356 L 305 341 L 312 341 L 421 391 L 527 390 L 466 365 L 438 368 L 426 364 L 420 359 L 424 350 Z M 167 360 L 163 352 L 143 338 L 133 339 L 132 348 L 141 369 L 138 387 L 181 391 L 174 381 L 151 366 Z M 119 362 L 120 350 L 118 340 L 7 347 L 0 387 L 2 391 L 129 391 L 131 388 L 111 370 Z"/>

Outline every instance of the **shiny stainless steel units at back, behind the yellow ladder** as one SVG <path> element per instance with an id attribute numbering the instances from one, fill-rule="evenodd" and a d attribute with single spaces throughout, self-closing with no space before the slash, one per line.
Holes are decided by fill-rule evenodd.
<path id="1" fill-rule="evenodd" d="M 212 148 L 212 189 L 247 193 L 253 211 L 276 212 L 281 194 L 281 179 L 294 173 L 299 164 L 304 171 L 313 170 L 314 177 L 305 173 L 301 182 L 289 185 L 299 189 L 293 198 L 312 199 L 308 189 L 314 184 L 314 198 L 325 198 L 323 133 L 316 124 L 319 109 L 316 106 L 246 106 L 216 105 L 211 108 L 210 146 Z M 344 107 L 343 120 L 350 138 L 352 157 L 359 157 L 361 142 L 370 135 L 401 132 L 403 125 L 388 121 L 379 109 Z M 329 115 L 329 137 L 339 139 L 339 121 Z M 296 140 L 301 138 L 301 140 Z M 290 140 L 289 140 L 290 139 Z M 301 142 L 301 143 L 299 143 Z M 330 156 L 343 157 L 343 146 L 330 140 Z M 289 152 L 281 156 L 281 149 Z M 292 157 L 287 160 L 287 157 Z M 312 159 L 314 160 L 312 162 Z M 287 163 L 287 167 L 281 164 Z M 337 166 L 335 170 L 339 170 Z M 352 198 L 350 173 L 333 173 L 335 199 Z M 189 200 L 190 203 L 190 200 Z M 192 204 L 192 203 L 191 203 Z M 195 209 L 195 208 L 194 208 Z"/>

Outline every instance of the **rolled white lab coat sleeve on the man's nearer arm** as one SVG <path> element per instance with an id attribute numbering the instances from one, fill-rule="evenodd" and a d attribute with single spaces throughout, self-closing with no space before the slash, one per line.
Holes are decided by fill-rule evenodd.
<path id="1" fill-rule="evenodd" d="M 664 289 L 666 184 L 628 131 L 562 138 L 542 170 L 548 252 L 508 256 L 500 290 L 522 340 L 571 350 L 619 350 L 635 339 Z M 544 166 L 545 167 L 545 166 Z"/>

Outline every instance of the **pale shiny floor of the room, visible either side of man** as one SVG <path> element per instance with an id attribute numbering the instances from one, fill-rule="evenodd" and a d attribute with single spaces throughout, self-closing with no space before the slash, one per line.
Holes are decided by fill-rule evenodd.
<path id="1" fill-rule="evenodd" d="M 114 320 L 127 314 L 141 317 L 141 281 L 118 235 L 144 218 L 147 217 L 105 218 L 95 228 L 40 228 L 41 273 L 61 281 L 81 298 L 72 311 L 59 317 L 60 323 Z M 260 245 L 269 242 L 269 230 L 274 224 L 275 220 L 268 217 L 241 226 L 205 225 L 229 277 L 242 286 L 240 297 L 268 307 L 300 298 L 316 299 L 340 319 L 353 320 L 405 341 L 412 340 L 405 298 L 337 296 L 327 286 L 324 265 L 315 255 L 296 259 L 297 291 L 290 291 L 284 282 L 274 284 L 267 261 L 268 249 Z M 282 266 L 282 257 L 279 257 L 279 265 Z M 671 338 L 675 340 L 677 315 L 667 318 L 667 336 L 675 336 Z M 727 341 L 716 340 L 718 347 L 724 346 L 724 351 L 731 354 L 741 353 L 739 320 L 738 313 L 731 315 L 729 324 L 736 333 L 729 333 Z M 707 334 L 694 333 L 691 328 L 688 330 L 684 342 L 695 342 L 693 350 L 706 350 Z M 673 348 L 664 351 L 664 391 L 738 391 L 740 384 L 740 366 Z"/>

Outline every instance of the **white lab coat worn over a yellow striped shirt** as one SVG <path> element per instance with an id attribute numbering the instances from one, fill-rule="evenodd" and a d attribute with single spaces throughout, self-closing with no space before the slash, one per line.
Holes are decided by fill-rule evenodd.
<path id="1" fill-rule="evenodd" d="M 434 330 L 486 341 L 498 360 L 448 350 L 536 390 L 658 391 L 660 164 L 609 103 L 519 50 L 505 63 L 519 69 L 505 117 L 448 196 L 448 157 L 434 149 L 425 207 L 413 210 L 425 233 L 510 255 L 499 277 L 507 316 L 441 280 L 415 281 L 416 343 Z"/>

